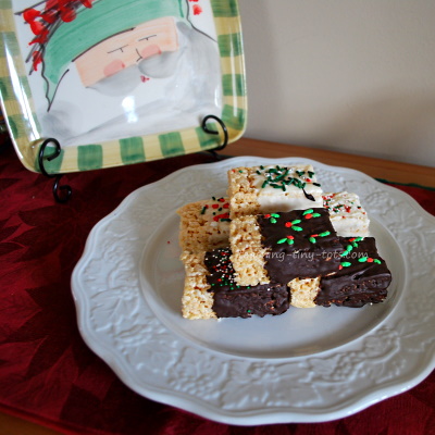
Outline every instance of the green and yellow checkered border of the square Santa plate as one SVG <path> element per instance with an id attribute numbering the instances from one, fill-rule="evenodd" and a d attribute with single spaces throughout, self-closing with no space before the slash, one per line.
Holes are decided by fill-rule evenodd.
<path id="1" fill-rule="evenodd" d="M 244 134 L 247 123 L 245 59 L 239 9 L 237 0 L 210 0 L 210 3 L 221 59 L 223 88 L 221 119 L 227 127 L 228 141 L 234 142 Z M 0 18 L 2 111 L 22 163 L 28 170 L 39 172 L 37 156 L 45 138 L 39 137 L 40 126 L 16 39 L 12 0 L 0 0 Z M 220 132 L 220 135 L 207 134 L 198 126 L 159 135 L 65 147 L 60 157 L 51 162 L 47 161 L 46 170 L 49 173 L 99 170 L 210 150 L 222 144 L 224 135 L 217 123 L 210 121 L 208 126 L 210 129 Z M 50 147 L 47 147 L 46 154 L 50 153 Z"/>

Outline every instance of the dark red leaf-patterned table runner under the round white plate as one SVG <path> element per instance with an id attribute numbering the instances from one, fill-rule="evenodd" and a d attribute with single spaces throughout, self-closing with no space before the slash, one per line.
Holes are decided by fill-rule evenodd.
<path id="1" fill-rule="evenodd" d="M 61 184 L 73 198 L 58 204 L 52 181 L 1 146 L 0 410 L 67 434 L 435 434 L 434 373 L 341 420 L 238 427 L 140 397 L 84 344 L 70 278 L 92 226 L 138 187 L 212 160 L 191 154 L 67 174 Z M 397 187 L 435 214 L 434 190 Z"/>

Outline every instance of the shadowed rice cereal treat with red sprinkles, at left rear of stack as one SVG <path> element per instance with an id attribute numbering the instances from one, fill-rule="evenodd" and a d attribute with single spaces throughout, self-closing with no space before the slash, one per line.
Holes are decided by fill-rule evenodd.
<path id="1" fill-rule="evenodd" d="M 177 210 L 181 217 L 179 245 L 183 251 L 203 252 L 229 245 L 229 202 L 212 197 L 190 202 Z"/>

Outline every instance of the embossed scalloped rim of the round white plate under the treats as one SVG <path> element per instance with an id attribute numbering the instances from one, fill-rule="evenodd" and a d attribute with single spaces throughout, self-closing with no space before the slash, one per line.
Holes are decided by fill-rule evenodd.
<path id="1" fill-rule="evenodd" d="M 134 270 L 140 263 L 146 241 L 153 234 L 153 226 L 146 223 L 146 215 L 150 212 L 146 202 L 152 198 L 156 189 L 164 197 L 165 191 L 174 190 L 172 186 L 175 182 L 186 185 L 198 177 L 211 177 L 213 183 L 203 184 L 200 191 L 195 194 L 192 200 L 197 200 L 201 199 L 201 195 L 204 197 L 207 189 L 222 189 L 225 181 L 220 176 L 231 167 L 298 162 L 313 164 L 323 184 L 324 179 L 335 179 L 337 187 L 346 187 L 347 190 L 359 186 L 358 194 L 369 213 L 375 215 L 395 236 L 401 246 L 401 253 L 409 262 L 406 272 L 409 276 L 406 278 L 413 285 L 409 286 L 394 311 L 373 331 L 319 355 L 268 360 L 210 351 L 177 336 L 156 318 L 145 299 L 138 295 L 136 303 L 140 309 L 130 304 L 129 319 L 115 318 L 115 323 L 111 325 L 90 320 L 92 309 L 99 310 L 96 300 L 104 304 L 109 299 L 108 291 L 114 291 L 115 286 L 111 284 L 109 289 L 101 289 L 105 281 L 99 275 L 99 265 L 101 261 L 105 264 L 113 261 L 113 258 L 110 254 L 103 258 L 103 254 L 96 252 L 107 251 L 109 247 L 120 249 L 123 240 L 127 239 L 128 244 L 122 247 L 125 249 L 124 261 L 114 262 L 110 268 L 119 268 L 117 271 L 125 269 L 125 273 L 129 274 L 128 284 L 133 287 L 129 287 L 128 297 L 135 298 L 135 291 L 140 293 L 139 277 L 136 279 Z M 156 222 L 164 211 L 173 211 L 177 206 L 171 201 L 173 198 L 174 192 L 166 203 L 158 204 L 161 209 L 157 212 L 153 209 Z M 409 219 L 414 221 L 414 225 L 403 232 Z M 435 314 L 430 297 L 430 277 L 424 273 L 431 268 L 427 257 L 435 253 L 434 224 L 435 217 L 407 194 L 361 172 L 310 159 L 238 157 L 188 166 L 132 192 L 90 232 L 84 254 L 72 275 L 79 331 L 87 345 L 136 393 L 211 420 L 253 425 L 344 418 L 413 387 L 435 366 L 435 340 L 431 333 Z M 120 229 L 122 237 L 116 234 Z M 123 249 L 116 253 L 120 254 Z M 127 262 L 134 264 L 127 265 Z M 125 276 L 117 279 L 119 284 L 124 283 L 123 279 Z M 134 286 L 137 286 L 136 290 Z M 420 287 L 419 293 L 417 287 Z M 133 318 L 136 320 L 132 321 Z M 130 336 L 127 331 L 135 332 Z M 135 341 L 134 349 L 127 344 L 128 340 Z M 164 353 L 166 368 L 159 361 L 159 352 Z M 322 361 L 322 366 L 319 361 Z M 383 364 L 376 365 L 380 361 Z M 196 368 L 201 385 L 198 385 Z M 246 382 L 235 380 L 235 375 L 240 373 L 246 376 Z M 237 382 L 236 386 L 232 386 Z M 238 396 L 243 394 L 240 391 L 244 391 L 243 400 Z"/>

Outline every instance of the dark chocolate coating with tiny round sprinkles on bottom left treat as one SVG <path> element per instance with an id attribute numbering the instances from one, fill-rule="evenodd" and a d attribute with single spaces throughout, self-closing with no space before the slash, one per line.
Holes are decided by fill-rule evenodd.
<path id="1" fill-rule="evenodd" d="M 289 291 L 286 285 L 263 284 L 238 286 L 229 261 L 231 250 L 215 249 L 207 252 L 204 264 L 209 271 L 207 282 L 214 293 L 213 311 L 217 318 L 250 318 L 282 314 L 288 310 Z"/>

